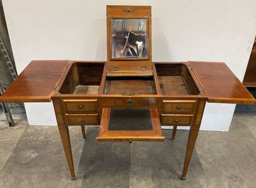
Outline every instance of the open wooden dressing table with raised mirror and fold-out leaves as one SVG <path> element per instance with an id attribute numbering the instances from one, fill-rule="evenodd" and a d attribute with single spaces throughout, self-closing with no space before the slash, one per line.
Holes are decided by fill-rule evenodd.
<path id="1" fill-rule="evenodd" d="M 255 98 L 225 63 L 152 62 L 151 49 L 150 6 L 107 6 L 107 62 L 34 60 L 0 101 L 53 102 L 72 179 L 69 126 L 84 137 L 85 126 L 100 126 L 97 141 L 130 143 L 164 141 L 161 126 L 174 126 L 174 139 L 177 126 L 190 126 L 185 179 L 206 101 Z"/>

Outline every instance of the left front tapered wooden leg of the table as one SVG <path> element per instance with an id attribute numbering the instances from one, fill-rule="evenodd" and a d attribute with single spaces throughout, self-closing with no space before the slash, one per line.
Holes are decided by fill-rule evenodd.
<path id="1" fill-rule="evenodd" d="M 68 126 L 59 126 L 59 134 L 61 134 L 61 141 L 62 141 L 63 148 L 64 148 L 64 151 L 65 151 L 67 164 L 69 165 L 69 171 L 70 171 L 70 174 L 71 174 L 71 179 L 76 179 Z"/>

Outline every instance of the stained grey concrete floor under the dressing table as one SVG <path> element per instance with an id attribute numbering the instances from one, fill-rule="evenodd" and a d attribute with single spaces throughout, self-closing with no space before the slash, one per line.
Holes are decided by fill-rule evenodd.
<path id="1" fill-rule="evenodd" d="M 255 187 L 256 106 L 237 106 L 229 132 L 200 131 L 180 181 L 188 131 L 164 143 L 97 143 L 98 129 L 70 128 L 76 181 L 69 176 L 56 126 L 28 126 L 0 115 L 0 187 Z"/>

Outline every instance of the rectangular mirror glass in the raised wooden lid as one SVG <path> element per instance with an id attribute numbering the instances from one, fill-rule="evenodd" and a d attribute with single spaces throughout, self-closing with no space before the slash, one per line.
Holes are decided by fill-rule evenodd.
<path id="1" fill-rule="evenodd" d="M 112 19 L 112 59 L 147 59 L 147 19 Z"/>

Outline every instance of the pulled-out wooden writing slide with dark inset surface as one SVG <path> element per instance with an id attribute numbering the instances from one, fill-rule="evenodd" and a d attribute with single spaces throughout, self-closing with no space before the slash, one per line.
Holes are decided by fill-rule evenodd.
<path id="1" fill-rule="evenodd" d="M 164 141 L 157 108 L 103 108 L 98 141 Z"/>

